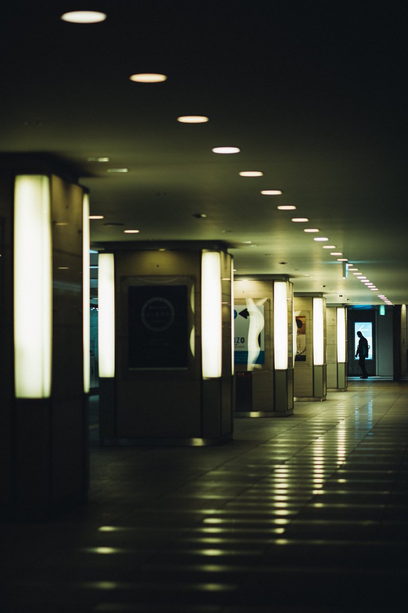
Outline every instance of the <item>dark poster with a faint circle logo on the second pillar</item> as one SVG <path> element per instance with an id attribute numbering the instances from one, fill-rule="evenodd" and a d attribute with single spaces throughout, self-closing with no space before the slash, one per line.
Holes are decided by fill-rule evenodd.
<path id="1" fill-rule="evenodd" d="M 187 368 L 186 285 L 128 288 L 129 368 Z"/>

